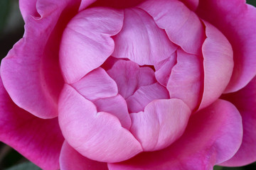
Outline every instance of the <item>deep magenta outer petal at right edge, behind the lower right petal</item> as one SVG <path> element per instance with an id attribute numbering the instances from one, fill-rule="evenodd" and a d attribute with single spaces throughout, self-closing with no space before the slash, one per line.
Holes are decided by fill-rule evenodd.
<path id="1" fill-rule="evenodd" d="M 223 166 L 243 166 L 256 161 L 256 78 L 245 88 L 222 96 L 233 103 L 242 115 L 242 145 L 235 156 Z"/>

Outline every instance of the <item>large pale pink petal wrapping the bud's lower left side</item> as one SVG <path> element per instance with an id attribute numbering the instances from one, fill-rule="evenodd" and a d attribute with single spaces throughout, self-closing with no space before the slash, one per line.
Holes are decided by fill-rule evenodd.
<path id="1" fill-rule="evenodd" d="M 119 120 L 65 84 L 59 102 L 59 123 L 65 140 L 83 156 L 100 162 L 121 162 L 142 152 Z"/>

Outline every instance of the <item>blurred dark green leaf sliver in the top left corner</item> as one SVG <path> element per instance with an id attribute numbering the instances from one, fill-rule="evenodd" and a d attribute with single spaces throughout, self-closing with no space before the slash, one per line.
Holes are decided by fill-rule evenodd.
<path id="1" fill-rule="evenodd" d="M 4 29 L 10 9 L 11 9 L 10 0 L 0 1 L 0 34 L 1 34 L 1 31 Z"/>

